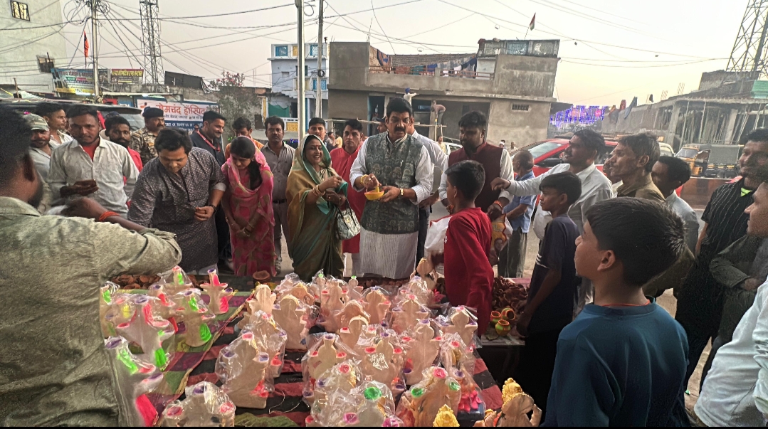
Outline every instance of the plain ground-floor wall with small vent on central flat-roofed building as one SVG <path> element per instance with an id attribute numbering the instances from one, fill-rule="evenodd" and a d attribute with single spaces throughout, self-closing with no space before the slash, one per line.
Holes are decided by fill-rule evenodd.
<path id="1" fill-rule="evenodd" d="M 522 101 L 494 100 L 488 114 L 488 141 L 506 140 L 517 147 L 547 138 L 549 103 L 525 102 L 528 111 L 513 111 L 512 104 Z"/>

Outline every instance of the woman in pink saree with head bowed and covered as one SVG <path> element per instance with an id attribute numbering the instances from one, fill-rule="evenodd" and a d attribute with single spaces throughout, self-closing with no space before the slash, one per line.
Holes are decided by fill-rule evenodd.
<path id="1" fill-rule="evenodd" d="M 221 200 L 232 239 L 236 276 L 259 271 L 275 275 L 275 218 L 272 212 L 272 171 L 247 137 L 230 144 L 230 157 L 221 167 L 227 192 Z"/>

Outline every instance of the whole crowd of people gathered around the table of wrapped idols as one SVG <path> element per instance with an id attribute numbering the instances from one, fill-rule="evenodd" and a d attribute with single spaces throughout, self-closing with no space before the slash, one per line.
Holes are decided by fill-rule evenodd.
<path id="1" fill-rule="evenodd" d="M 415 131 L 403 98 L 379 134 L 364 139 L 349 120 L 339 142 L 315 118 L 296 149 L 279 117 L 264 120 L 263 145 L 249 120 L 233 120 L 225 145 L 229 118 L 217 112 L 191 136 L 165 127 L 160 109 L 143 115 L 131 134 L 85 105 L 0 110 L 4 424 L 118 424 L 97 322 L 97 286 L 111 276 L 224 262 L 269 278 L 285 236 L 303 280 L 343 276 L 344 253 L 356 276 L 403 279 L 425 256 L 436 203 L 451 217 L 431 262 L 444 266 L 449 302 L 475 309 L 478 334 L 491 319 L 492 223 L 508 225 L 502 276 L 522 276 L 531 227 L 541 241 L 515 379 L 546 425 L 768 423 L 768 130 L 749 134 L 742 177 L 715 191 L 699 233 L 675 192 L 690 167 L 660 157 L 649 134 L 621 138 L 601 171 L 604 138 L 578 130 L 563 163 L 537 177 L 531 153 L 513 159 L 487 142 L 481 112 L 462 116 L 462 148 L 446 155 Z M 675 318 L 655 302 L 667 289 Z M 710 341 L 688 415 L 684 392 Z"/>

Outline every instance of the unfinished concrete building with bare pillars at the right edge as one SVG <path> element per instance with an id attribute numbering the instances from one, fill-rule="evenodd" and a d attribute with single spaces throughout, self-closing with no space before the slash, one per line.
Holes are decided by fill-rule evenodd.
<path id="1" fill-rule="evenodd" d="M 768 126 L 768 81 L 724 71 L 703 73 L 699 89 L 631 111 L 606 113 L 596 125 L 604 135 L 650 132 L 675 151 L 684 144 L 743 144 L 743 137 Z"/>

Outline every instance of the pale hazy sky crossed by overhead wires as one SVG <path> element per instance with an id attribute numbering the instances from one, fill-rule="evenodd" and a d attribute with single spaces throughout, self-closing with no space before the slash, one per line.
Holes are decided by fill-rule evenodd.
<path id="1" fill-rule="evenodd" d="M 306 41 L 317 39 L 318 1 L 305 0 Z M 323 36 L 370 38 L 387 54 L 474 53 L 481 38 L 557 38 L 559 101 L 611 106 L 638 97 L 644 104 L 649 94 L 656 101 L 663 91 L 678 94 L 681 85 L 694 91 L 703 71 L 725 68 L 748 1 L 327 0 Z M 61 4 L 65 16 L 85 14 L 75 0 Z M 109 4 L 99 65 L 142 68 L 137 0 Z M 293 0 L 159 0 L 159 8 L 165 71 L 207 79 L 237 72 L 249 86 L 269 87 L 270 46 L 296 41 Z M 248 12 L 254 9 L 261 10 Z M 75 54 L 81 25 L 63 32 L 72 66 L 82 65 Z"/>

